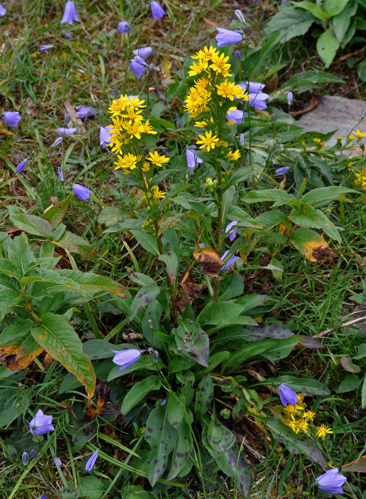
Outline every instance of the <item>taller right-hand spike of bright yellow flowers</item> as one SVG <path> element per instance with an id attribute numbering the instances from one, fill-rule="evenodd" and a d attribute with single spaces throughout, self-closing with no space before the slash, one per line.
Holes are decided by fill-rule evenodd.
<path id="1" fill-rule="evenodd" d="M 198 134 L 197 146 L 203 150 L 205 161 L 218 160 L 227 170 L 230 163 L 240 158 L 239 150 L 232 151 L 230 143 L 236 134 L 236 125 L 242 123 L 244 111 L 237 105 L 249 101 L 249 94 L 229 78 L 229 56 L 212 46 L 192 55 L 189 76 L 194 80 L 185 100 L 185 108 L 194 119 L 192 130 Z"/>

